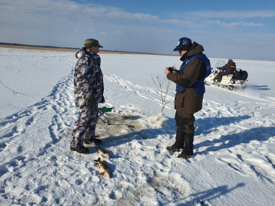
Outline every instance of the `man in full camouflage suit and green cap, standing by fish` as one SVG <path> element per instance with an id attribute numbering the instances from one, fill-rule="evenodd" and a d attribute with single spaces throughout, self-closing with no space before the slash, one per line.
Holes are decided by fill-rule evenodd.
<path id="1" fill-rule="evenodd" d="M 78 119 L 74 124 L 71 150 L 80 153 L 89 152 L 85 144 L 101 143 L 95 138 L 96 123 L 98 122 L 98 103 L 103 103 L 104 86 L 100 69 L 99 48 L 97 40 L 89 38 L 76 52 L 76 69 L 74 71 L 74 99 L 76 108 L 80 108 Z"/>

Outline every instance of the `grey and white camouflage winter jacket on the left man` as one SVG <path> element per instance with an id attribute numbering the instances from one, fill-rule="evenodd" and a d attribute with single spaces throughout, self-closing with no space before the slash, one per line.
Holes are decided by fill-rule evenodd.
<path id="1" fill-rule="evenodd" d="M 86 106 L 85 98 L 93 97 L 97 103 L 103 103 L 103 76 L 100 69 L 100 56 L 89 52 L 85 47 L 76 52 L 74 70 L 74 100 L 76 108 Z"/>

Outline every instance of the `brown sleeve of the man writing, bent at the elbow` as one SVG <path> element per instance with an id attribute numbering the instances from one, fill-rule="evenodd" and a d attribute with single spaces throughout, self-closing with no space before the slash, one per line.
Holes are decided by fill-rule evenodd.
<path id="1" fill-rule="evenodd" d="M 184 69 L 184 73 L 179 75 L 177 73 L 168 73 L 167 78 L 181 87 L 190 87 L 199 79 L 199 73 L 203 67 L 203 60 L 195 58 Z"/>

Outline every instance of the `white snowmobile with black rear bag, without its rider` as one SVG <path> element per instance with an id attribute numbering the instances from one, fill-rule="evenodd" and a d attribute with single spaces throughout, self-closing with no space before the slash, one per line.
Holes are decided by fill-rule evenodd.
<path id="1" fill-rule="evenodd" d="M 241 69 L 236 69 L 233 74 L 223 76 L 221 82 L 217 80 L 218 74 L 221 71 L 221 67 L 224 65 L 225 62 L 223 60 L 219 60 L 214 69 L 212 69 L 210 76 L 205 79 L 204 84 L 214 84 L 218 87 L 227 88 L 231 91 L 236 88 L 245 88 L 245 81 L 248 81 L 248 73 Z"/>

